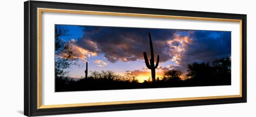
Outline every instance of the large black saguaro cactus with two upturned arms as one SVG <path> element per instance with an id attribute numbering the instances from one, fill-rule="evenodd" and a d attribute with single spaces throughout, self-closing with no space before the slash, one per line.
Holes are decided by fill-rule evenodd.
<path id="1" fill-rule="evenodd" d="M 151 78 L 152 78 L 152 82 L 155 82 L 155 69 L 158 66 L 159 63 L 159 55 L 157 55 L 157 60 L 156 60 L 156 64 L 155 64 L 155 59 L 154 59 L 154 50 L 153 50 L 153 44 L 152 44 L 152 39 L 151 39 L 151 35 L 149 33 L 149 45 L 150 45 L 150 53 L 151 53 L 151 58 L 150 58 L 150 64 L 148 62 L 148 56 L 146 52 L 143 52 L 143 56 L 145 59 L 145 63 L 146 66 L 148 67 L 148 69 L 151 70 Z"/>

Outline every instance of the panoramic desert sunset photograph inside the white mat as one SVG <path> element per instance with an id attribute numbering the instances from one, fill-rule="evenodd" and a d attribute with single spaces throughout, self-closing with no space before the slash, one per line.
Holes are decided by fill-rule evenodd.
<path id="1" fill-rule="evenodd" d="M 55 92 L 231 85 L 231 32 L 55 25 Z"/>

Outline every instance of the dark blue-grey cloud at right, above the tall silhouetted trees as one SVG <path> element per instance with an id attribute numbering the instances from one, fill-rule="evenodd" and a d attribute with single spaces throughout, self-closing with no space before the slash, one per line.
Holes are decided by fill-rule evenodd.
<path id="1" fill-rule="evenodd" d="M 184 70 L 194 62 L 211 62 L 231 56 L 231 32 L 193 31 L 189 38 L 193 42 L 183 52 L 182 62 L 180 66 L 175 66 L 176 69 Z"/>

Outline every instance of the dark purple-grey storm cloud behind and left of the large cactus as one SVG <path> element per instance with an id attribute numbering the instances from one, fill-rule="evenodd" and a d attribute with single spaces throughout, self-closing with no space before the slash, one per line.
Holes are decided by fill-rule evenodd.
<path id="1" fill-rule="evenodd" d="M 149 57 L 148 33 L 151 32 L 155 56 L 161 56 L 160 62 L 165 62 L 171 58 L 170 54 L 163 53 L 169 47 L 166 40 L 173 38 L 175 30 L 85 26 L 83 32 L 75 44 L 91 52 L 103 53 L 112 63 L 143 59 L 143 52 Z"/>

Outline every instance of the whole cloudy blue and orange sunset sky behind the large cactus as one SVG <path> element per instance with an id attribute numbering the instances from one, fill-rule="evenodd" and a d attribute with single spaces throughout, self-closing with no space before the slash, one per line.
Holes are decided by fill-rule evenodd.
<path id="1" fill-rule="evenodd" d="M 157 55 L 160 56 L 156 77 L 162 77 L 163 72 L 170 69 L 186 73 L 188 64 L 194 62 L 231 57 L 231 32 L 227 31 L 62 26 L 67 27 L 70 35 L 62 36 L 61 39 L 71 43 L 74 57 L 78 58 L 74 61 L 77 65 L 65 69 L 72 78 L 84 76 L 85 63 L 88 62 L 88 71 L 129 72 L 139 82 L 148 80 L 151 72 L 143 61 L 143 52 L 147 52 L 150 59 L 149 32 L 155 61 Z"/>

